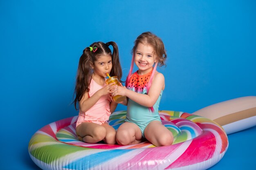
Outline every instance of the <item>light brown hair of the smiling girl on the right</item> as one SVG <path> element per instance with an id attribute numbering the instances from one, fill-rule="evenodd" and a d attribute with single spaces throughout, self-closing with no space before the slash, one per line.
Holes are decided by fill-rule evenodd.
<path id="1" fill-rule="evenodd" d="M 134 42 L 134 46 L 132 48 L 132 54 L 135 53 L 139 43 L 144 45 L 146 44 L 151 45 L 154 49 L 154 55 L 156 55 L 157 57 L 158 66 L 166 65 L 165 64 L 165 60 L 167 57 L 166 50 L 164 49 L 164 43 L 159 37 L 157 37 L 155 34 L 151 32 L 142 33 L 137 37 L 137 39 Z"/>

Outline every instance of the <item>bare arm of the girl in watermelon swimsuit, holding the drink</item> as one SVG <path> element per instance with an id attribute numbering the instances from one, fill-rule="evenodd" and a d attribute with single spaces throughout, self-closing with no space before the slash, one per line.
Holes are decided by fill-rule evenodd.
<path id="1" fill-rule="evenodd" d="M 114 96 L 125 95 L 129 99 L 142 106 L 152 107 L 157 101 L 161 90 L 164 90 L 164 75 L 162 75 L 162 73 L 156 72 L 147 95 L 136 93 L 120 86 L 116 86 L 112 92 Z"/>

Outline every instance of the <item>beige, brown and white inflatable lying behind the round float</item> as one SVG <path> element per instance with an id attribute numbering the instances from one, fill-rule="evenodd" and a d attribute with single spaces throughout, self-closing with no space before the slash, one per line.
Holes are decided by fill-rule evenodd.
<path id="1" fill-rule="evenodd" d="M 256 125 L 256 96 L 239 97 L 195 111 L 220 124 L 227 134 Z"/>

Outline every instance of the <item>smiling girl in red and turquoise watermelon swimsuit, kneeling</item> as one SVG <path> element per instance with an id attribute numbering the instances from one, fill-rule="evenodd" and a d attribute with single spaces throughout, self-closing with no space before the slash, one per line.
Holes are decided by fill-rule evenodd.
<path id="1" fill-rule="evenodd" d="M 112 96 L 126 96 L 124 124 L 117 129 L 117 143 L 139 144 L 145 138 L 155 146 L 173 143 L 173 134 L 162 125 L 158 107 L 164 91 L 164 75 L 156 71 L 165 65 L 166 51 L 160 38 L 150 32 L 137 37 L 132 49 L 132 64 L 126 87 L 112 86 Z M 133 64 L 138 71 L 132 73 Z"/>

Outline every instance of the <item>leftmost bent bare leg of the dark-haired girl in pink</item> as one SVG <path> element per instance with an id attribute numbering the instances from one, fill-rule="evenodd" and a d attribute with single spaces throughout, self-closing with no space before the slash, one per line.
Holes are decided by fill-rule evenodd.
<path id="1" fill-rule="evenodd" d="M 83 122 L 76 128 L 78 139 L 86 143 L 97 143 L 106 137 L 106 128 L 92 122 Z"/>

